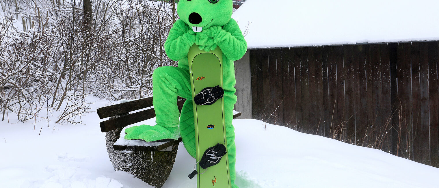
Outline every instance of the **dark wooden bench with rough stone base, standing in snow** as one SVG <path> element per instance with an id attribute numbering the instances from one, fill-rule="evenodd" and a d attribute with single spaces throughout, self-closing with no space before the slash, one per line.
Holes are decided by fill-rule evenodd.
<path id="1" fill-rule="evenodd" d="M 180 112 L 184 101 L 184 98 L 177 99 Z M 141 111 L 130 113 L 137 110 Z M 152 97 L 98 108 L 97 114 L 101 119 L 109 118 L 100 125 L 101 131 L 105 132 L 107 152 L 114 169 L 133 174 L 149 185 L 162 187 L 173 168 L 181 138 L 176 141 L 148 143 L 126 141 L 121 137 L 124 127 L 155 117 Z M 241 112 L 234 114 L 234 118 L 238 116 L 241 116 Z"/>

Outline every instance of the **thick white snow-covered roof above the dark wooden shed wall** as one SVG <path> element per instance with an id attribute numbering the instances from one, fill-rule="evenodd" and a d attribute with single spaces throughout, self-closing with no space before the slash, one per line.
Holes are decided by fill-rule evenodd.
<path id="1" fill-rule="evenodd" d="M 248 0 L 248 48 L 439 40 L 439 0 Z"/>

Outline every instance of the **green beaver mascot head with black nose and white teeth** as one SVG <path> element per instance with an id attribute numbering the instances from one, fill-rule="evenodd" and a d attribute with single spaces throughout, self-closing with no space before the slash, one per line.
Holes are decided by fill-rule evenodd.
<path id="1" fill-rule="evenodd" d="M 223 26 L 232 16 L 232 0 L 180 0 L 177 14 L 194 32 L 210 26 Z"/>

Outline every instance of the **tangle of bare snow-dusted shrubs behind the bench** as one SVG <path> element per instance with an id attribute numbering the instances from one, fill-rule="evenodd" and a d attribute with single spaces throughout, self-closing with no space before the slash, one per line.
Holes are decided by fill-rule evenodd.
<path id="1" fill-rule="evenodd" d="M 163 48 L 177 19 L 174 3 L 98 0 L 92 22 L 84 22 L 82 1 L 1 2 L 2 120 L 9 113 L 21 121 L 36 119 L 45 109 L 60 111 L 57 123 L 79 123 L 87 95 L 149 96 L 152 71 L 176 65 Z M 12 25 L 17 20 L 22 28 Z"/>

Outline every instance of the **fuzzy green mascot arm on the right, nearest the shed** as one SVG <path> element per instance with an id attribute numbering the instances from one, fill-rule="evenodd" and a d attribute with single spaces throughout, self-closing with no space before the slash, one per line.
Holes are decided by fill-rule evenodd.
<path id="1" fill-rule="evenodd" d="M 247 51 L 247 42 L 233 18 L 230 18 L 223 29 L 219 29 L 213 40 L 221 48 L 223 54 L 232 61 L 241 59 Z"/>

